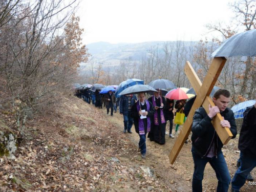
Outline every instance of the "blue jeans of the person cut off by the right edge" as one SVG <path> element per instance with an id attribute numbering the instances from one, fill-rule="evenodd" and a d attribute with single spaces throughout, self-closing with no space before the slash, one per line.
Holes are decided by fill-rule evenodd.
<path id="1" fill-rule="evenodd" d="M 240 190 L 245 184 L 247 175 L 256 167 L 256 157 L 249 157 L 243 152 L 240 153 L 240 167 L 232 179 L 231 185 L 234 190 Z"/>

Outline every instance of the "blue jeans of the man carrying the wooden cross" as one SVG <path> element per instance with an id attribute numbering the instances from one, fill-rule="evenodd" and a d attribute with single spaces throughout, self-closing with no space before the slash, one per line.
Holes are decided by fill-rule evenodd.
<path id="1" fill-rule="evenodd" d="M 220 151 L 217 154 L 217 157 L 212 158 L 201 158 L 196 153 L 192 152 L 194 159 L 194 175 L 192 181 L 192 189 L 193 191 L 202 191 L 202 180 L 204 178 L 204 168 L 205 165 L 209 162 L 211 167 L 214 168 L 217 179 L 218 179 L 218 187 L 217 192 L 228 191 L 228 186 L 231 181 L 230 174 L 228 172 L 227 163 L 225 158 Z"/>

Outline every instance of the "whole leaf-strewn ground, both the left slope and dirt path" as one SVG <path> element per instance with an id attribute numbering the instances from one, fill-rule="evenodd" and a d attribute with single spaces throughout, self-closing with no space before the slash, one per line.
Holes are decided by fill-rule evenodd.
<path id="1" fill-rule="evenodd" d="M 11 126 L 1 115 L 0 129 Z M 194 163 L 191 142 L 182 148 L 174 165 L 168 154 L 177 136 L 166 135 L 166 144 L 146 141 L 146 159 L 138 152 L 139 136 L 122 133 L 118 113 L 71 97 L 60 108 L 27 124 L 27 139 L 18 144 L 15 159 L 0 158 L 0 191 L 191 191 Z M 239 158 L 238 139 L 223 153 L 231 177 Z M 256 172 L 252 172 L 256 177 Z M 214 170 L 207 165 L 204 191 L 216 191 Z M 241 191 L 255 191 L 246 183 Z"/>

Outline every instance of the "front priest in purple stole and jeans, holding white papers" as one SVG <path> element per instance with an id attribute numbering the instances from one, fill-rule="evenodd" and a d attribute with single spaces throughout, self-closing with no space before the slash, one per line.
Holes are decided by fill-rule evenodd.
<path id="1" fill-rule="evenodd" d="M 154 113 L 154 107 L 145 99 L 145 93 L 139 93 L 139 101 L 132 106 L 131 116 L 134 118 L 135 131 L 140 136 L 139 150 L 142 158 L 146 158 L 146 134 L 150 132 L 150 117 L 153 117 Z"/>

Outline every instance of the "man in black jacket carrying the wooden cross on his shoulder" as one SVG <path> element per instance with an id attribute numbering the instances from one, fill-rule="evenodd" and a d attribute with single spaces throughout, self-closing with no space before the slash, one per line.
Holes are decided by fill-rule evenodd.
<path id="1" fill-rule="evenodd" d="M 237 135 L 237 126 L 234 120 L 233 112 L 227 108 L 230 102 L 230 92 L 220 89 L 215 92 L 213 101 L 216 106 L 209 105 L 209 113 L 204 108 L 199 108 L 193 117 L 192 124 L 192 155 L 194 159 L 195 169 L 193 175 L 192 188 L 193 191 L 202 191 L 202 180 L 204 168 L 209 162 L 214 168 L 218 179 L 217 191 L 228 191 L 231 181 L 225 158 L 221 148 L 223 146 L 219 136 L 217 135 L 211 121 L 212 118 L 220 113 L 224 120 L 221 126 L 228 127 L 233 134 L 233 138 Z"/>

